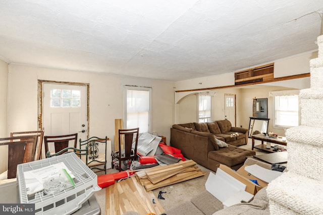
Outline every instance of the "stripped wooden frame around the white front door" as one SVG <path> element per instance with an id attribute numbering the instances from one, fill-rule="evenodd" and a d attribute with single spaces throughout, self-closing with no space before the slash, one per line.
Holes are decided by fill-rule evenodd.
<path id="1" fill-rule="evenodd" d="M 38 119 L 37 126 L 38 130 L 42 129 L 42 116 L 43 116 L 43 84 L 64 84 L 64 85 L 75 85 L 75 86 L 86 86 L 86 121 L 87 121 L 87 137 L 90 133 L 90 84 L 88 83 L 77 83 L 77 82 L 59 82 L 59 81 L 48 81 L 38 80 Z"/>

